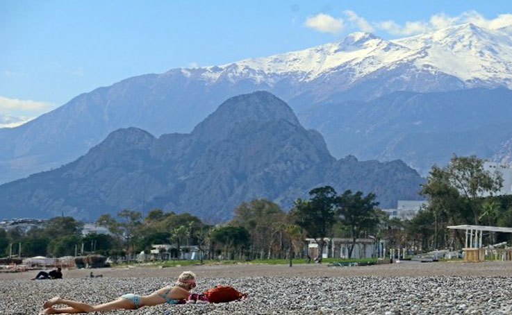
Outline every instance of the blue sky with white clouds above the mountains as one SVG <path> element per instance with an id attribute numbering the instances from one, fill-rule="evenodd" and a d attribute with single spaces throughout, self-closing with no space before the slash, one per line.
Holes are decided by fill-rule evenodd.
<path id="1" fill-rule="evenodd" d="M 353 31 L 390 39 L 468 21 L 512 24 L 511 8 L 499 0 L 0 0 L 0 116 L 37 116 L 131 76 L 305 49 Z"/>

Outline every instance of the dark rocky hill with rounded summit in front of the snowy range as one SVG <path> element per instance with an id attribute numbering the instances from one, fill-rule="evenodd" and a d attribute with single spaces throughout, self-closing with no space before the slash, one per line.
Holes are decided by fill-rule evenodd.
<path id="1" fill-rule="evenodd" d="M 322 136 L 267 92 L 233 97 L 190 134 L 158 139 L 116 130 L 78 160 L 0 185 L 4 216 L 80 219 L 161 207 L 210 221 L 229 219 L 242 201 L 270 198 L 288 209 L 318 185 L 375 191 L 384 207 L 419 198 L 423 179 L 402 162 L 336 161 Z"/>

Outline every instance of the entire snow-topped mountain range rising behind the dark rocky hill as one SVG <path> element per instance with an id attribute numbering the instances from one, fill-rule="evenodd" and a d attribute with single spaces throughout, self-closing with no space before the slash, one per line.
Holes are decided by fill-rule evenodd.
<path id="1" fill-rule="evenodd" d="M 400 158 L 422 171 L 431 164 L 443 163 L 440 155 L 482 153 L 481 157 L 492 157 L 506 139 L 512 138 L 509 120 L 500 122 L 504 127 L 492 133 L 496 135 L 492 141 L 482 139 L 479 150 L 474 150 L 474 142 L 466 138 L 487 135 L 489 130 L 495 130 L 495 124 L 494 127 L 484 126 L 476 120 L 474 126 L 451 130 L 450 121 L 460 120 L 458 112 L 449 111 L 439 126 L 433 124 L 439 116 L 428 111 L 430 103 L 419 104 L 416 99 L 439 100 L 437 108 L 446 110 L 453 104 L 450 98 L 455 97 L 449 92 L 474 87 L 512 88 L 511 70 L 512 27 L 488 30 L 463 24 L 397 40 L 358 32 L 301 51 L 136 76 L 76 96 L 22 126 L 0 128 L 0 147 L 3 148 L 0 150 L 0 183 L 75 160 L 118 128 L 137 127 L 153 135 L 189 133 L 225 99 L 256 90 L 272 92 L 286 101 L 306 128 L 315 128 L 326 135 L 327 146 L 336 157 L 356 154 L 363 159 Z M 392 95 L 386 98 L 396 92 L 446 92 L 447 96 Z M 493 117 L 510 118 L 506 115 L 509 100 L 500 99 L 509 97 L 506 92 L 474 94 L 478 97 L 478 102 L 472 105 L 476 117 L 488 115 L 486 102 L 492 97 L 500 101 L 497 113 L 505 110 L 505 114 Z M 379 129 L 374 124 L 375 119 L 365 119 L 366 125 L 357 126 L 361 133 L 354 133 L 356 130 L 347 131 L 346 126 L 332 121 L 332 117 L 350 121 L 364 117 L 358 115 L 376 112 L 384 116 L 397 114 L 404 99 L 407 106 L 403 106 L 403 111 L 411 114 L 399 112 L 401 116 L 421 121 L 416 107 L 421 105 L 432 117 L 430 124 L 389 120 L 399 126 L 391 128 L 377 119 Z M 462 98 L 457 106 L 463 108 L 465 101 Z M 361 106 L 370 108 L 360 111 Z M 388 112 L 385 106 L 390 106 Z M 420 131 L 418 126 L 422 128 Z M 429 141 L 429 146 L 419 150 L 430 139 L 431 126 L 436 126 L 439 139 L 452 132 L 453 139 L 458 139 L 460 145 L 454 148 L 454 142 Z M 379 138 L 379 144 L 368 142 L 362 151 L 357 145 L 368 139 L 360 137 L 365 130 L 386 137 Z M 415 130 L 422 133 L 423 143 L 415 141 Z M 349 149 L 349 144 L 356 144 L 352 147 L 358 148 L 361 154 Z M 423 149 L 439 154 L 427 156 Z M 407 152 L 415 156 L 402 157 Z"/>

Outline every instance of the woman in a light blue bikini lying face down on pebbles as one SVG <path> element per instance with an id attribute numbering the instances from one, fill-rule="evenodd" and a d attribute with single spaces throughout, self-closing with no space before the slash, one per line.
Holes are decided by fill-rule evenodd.
<path id="1" fill-rule="evenodd" d="M 117 300 L 100 305 L 88 305 L 74 300 L 65 300 L 55 297 L 44 302 L 42 307 L 44 310 L 40 314 L 61 314 L 61 313 L 92 313 L 106 312 L 114 309 L 138 309 L 143 306 L 154 306 L 163 303 L 181 304 L 189 296 L 189 291 L 194 289 L 195 274 L 191 271 L 184 271 L 179 275 L 174 286 L 163 287 L 158 291 L 154 291 L 149 296 L 138 296 L 137 294 L 124 294 Z M 56 309 L 53 305 L 64 304 L 69 307 Z"/>

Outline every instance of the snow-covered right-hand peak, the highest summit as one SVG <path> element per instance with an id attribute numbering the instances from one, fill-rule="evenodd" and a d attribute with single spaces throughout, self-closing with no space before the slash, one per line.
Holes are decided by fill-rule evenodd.
<path id="1" fill-rule="evenodd" d="M 469 86 L 485 82 L 512 87 L 512 37 L 504 29 L 464 24 L 394 42 L 415 51 L 404 61 L 418 68 L 433 67 Z"/>

